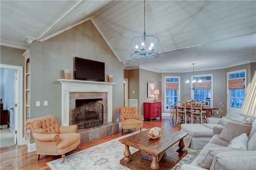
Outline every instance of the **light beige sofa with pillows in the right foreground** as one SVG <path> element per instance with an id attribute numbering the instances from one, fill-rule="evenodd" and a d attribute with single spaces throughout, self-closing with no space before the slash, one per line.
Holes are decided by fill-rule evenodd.
<path id="1" fill-rule="evenodd" d="M 246 125 L 247 124 L 247 125 Z M 256 120 L 233 119 L 224 127 L 213 127 L 214 135 L 200 154 L 181 170 L 254 170 L 256 168 Z"/>

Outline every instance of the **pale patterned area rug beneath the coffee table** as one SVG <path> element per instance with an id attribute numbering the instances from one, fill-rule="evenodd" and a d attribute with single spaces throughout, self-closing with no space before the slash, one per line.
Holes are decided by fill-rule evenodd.
<path id="1" fill-rule="evenodd" d="M 144 131 L 146 129 L 142 130 Z M 119 164 L 120 159 L 124 157 L 124 144 L 118 140 L 139 132 L 136 131 L 65 156 L 65 162 L 63 164 L 61 163 L 62 158 L 48 162 L 47 164 L 52 170 L 129 170 L 126 166 Z M 138 151 L 138 149 L 131 146 L 129 149 L 131 154 Z M 188 154 L 173 168 L 174 170 L 179 170 L 182 164 L 190 164 L 200 152 L 200 150 L 186 149 L 188 150 Z"/>

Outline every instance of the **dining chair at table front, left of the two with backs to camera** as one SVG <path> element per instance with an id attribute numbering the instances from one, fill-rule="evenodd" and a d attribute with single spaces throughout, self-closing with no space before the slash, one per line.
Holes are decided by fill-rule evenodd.
<path id="1" fill-rule="evenodd" d="M 187 114 L 186 105 L 187 105 L 186 102 L 183 102 L 183 101 L 176 102 L 176 111 L 177 111 L 176 124 L 178 124 L 179 122 L 180 123 L 187 123 L 187 121 L 189 121 L 188 118 L 190 118 L 191 115 Z"/>

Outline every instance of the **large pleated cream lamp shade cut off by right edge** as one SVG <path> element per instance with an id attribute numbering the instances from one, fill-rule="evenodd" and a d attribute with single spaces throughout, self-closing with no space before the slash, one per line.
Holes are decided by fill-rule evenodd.
<path id="1" fill-rule="evenodd" d="M 254 72 L 252 82 L 250 85 L 248 85 L 245 94 L 246 95 L 240 111 L 240 115 L 256 118 L 256 71 Z"/>

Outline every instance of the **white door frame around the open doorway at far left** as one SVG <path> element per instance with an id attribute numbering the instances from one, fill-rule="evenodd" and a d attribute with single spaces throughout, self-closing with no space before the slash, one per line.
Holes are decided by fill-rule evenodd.
<path id="1" fill-rule="evenodd" d="M 15 113 L 15 124 L 17 130 L 17 144 L 22 145 L 24 144 L 23 141 L 23 67 L 16 66 L 16 65 L 6 65 L 0 64 L 2 69 L 12 69 L 17 71 L 17 81 L 16 81 L 16 94 L 14 94 L 14 100 L 17 102 L 17 113 Z M 15 133 L 15 129 L 14 129 Z"/>

